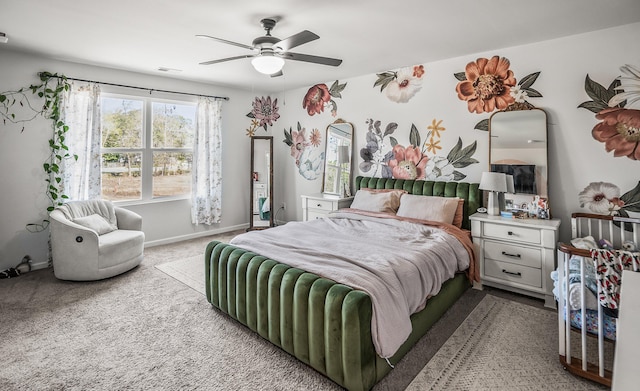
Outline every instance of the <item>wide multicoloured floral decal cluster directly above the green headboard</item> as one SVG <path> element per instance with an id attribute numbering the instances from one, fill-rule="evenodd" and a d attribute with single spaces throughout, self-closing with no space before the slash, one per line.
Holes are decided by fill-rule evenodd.
<path id="1" fill-rule="evenodd" d="M 367 132 L 367 145 L 360 150 L 360 170 L 369 172 L 372 169 L 373 176 L 382 178 L 399 179 L 425 179 L 441 181 L 459 181 L 466 178 L 466 175 L 456 170 L 464 168 L 470 164 L 478 163 L 472 158 L 476 151 L 477 143 L 463 148 L 462 139 L 458 137 L 458 142 L 449 151 L 446 157 L 437 155 L 442 149 L 440 144 L 441 132 L 446 130 L 441 126 L 442 120 L 434 119 L 427 127 L 424 144 L 421 142 L 418 128 L 412 124 L 409 132 L 409 146 L 404 147 L 391 136 L 398 127 L 395 122 L 389 123 L 384 132 L 381 129 L 381 122 L 368 120 L 369 130 Z M 384 152 L 385 138 L 389 137 L 391 151 Z M 433 156 L 428 154 L 432 153 Z"/>

